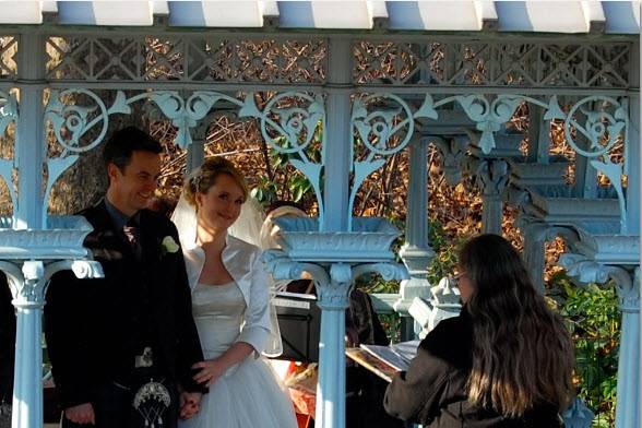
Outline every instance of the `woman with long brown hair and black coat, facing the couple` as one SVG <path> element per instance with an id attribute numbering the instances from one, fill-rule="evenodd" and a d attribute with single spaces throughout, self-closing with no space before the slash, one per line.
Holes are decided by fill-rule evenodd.
<path id="1" fill-rule="evenodd" d="M 573 345 L 515 249 L 480 235 L 455 275 L 464 304 L 421 341 L 384 405 L 424 427 L 559 427 L 573 395 Z"/>

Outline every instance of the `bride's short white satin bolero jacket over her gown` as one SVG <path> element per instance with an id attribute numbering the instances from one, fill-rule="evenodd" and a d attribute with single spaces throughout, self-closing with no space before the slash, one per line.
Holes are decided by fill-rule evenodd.
<path id="1" fill-rule="evenodd" d="M 251 243 L 227 235 L 221 255 L 223 265 L 240 288 L 246 300 L 245 323 L 237 342 L 250 344 L 258 357 L 270 335 L 270 287 L 261 250 Z M 190 288 L 193 290 L 205 264 L 205 251 L 199 246 L 185 250 Z"/>

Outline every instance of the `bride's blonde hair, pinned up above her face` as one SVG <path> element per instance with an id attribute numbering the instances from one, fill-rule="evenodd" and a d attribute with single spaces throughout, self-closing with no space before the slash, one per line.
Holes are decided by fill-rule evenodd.
<path id="1" fill-rule="evenodd" d="M 243 200 L 248 199 L 248 185 L 242 174 L 234 164 L 223 157 L 210 157 L 203 165 L 194 169 L 183 186 L 185 199 L 197 209 L 197 193 L 207 193 L 207 190 L 216 183 L 221 175 L 229 176 L 241 188 Z"/>

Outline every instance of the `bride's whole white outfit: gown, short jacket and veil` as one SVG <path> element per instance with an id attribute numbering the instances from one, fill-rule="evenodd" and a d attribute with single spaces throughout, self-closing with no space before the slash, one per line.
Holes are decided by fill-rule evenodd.
<path id="1" fill-rule="evenodd" d="M 242 210 L 250 211 L 235 223 L 237 233 L 242 231 L 243 237 L 258 237 L 262 223 L 260 210 L 248 203 Z M 192 314 L 204 357 L 216 358 L 239 341 L 255 349 L 210 387 L 210 392 L 201 400 L 200 412 L 189 420 L 179 421 L 179 427 L 296 428 L 289 394 L 265 358 L 255 357 L 261 352 L 266 355 L 281 353 L 278 323 L 275 316 L 271 317 L 270 286 L 261 251 L 228 234 L 221 259 L 234 282 L 200 284 L 206 257 L 195 245 L 197 213 L 185 195 L 181 195 L 171 219 L 179 231 L 186 259 Z"/>

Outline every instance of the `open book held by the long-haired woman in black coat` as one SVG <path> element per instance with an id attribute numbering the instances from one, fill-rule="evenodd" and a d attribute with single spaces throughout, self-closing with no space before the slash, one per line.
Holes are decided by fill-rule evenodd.
<path id="1" fill-rule="evenodd" d="M 407 370 L 417 354 L 419 341 L 395 343 L 389 346 L 365 345 L 346 348 L 345 354 L 380 378 L 391 382 L 399 371 Z"/>

